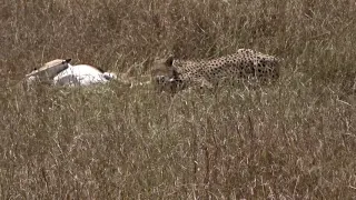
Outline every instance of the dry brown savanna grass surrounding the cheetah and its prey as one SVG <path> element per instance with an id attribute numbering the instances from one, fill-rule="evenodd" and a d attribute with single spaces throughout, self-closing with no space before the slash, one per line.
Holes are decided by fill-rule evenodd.
<path id="1" fill-rule="evenodd" d="M 1 0 L 0 199 L 355 199 L 353 0 Z M 19 83 L 56 58 L 135 76 L 250 48 L 259 89 Z"/>

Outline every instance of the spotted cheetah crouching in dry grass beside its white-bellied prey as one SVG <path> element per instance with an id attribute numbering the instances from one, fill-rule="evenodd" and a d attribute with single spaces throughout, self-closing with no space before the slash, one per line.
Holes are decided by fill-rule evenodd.
<path id="1" fill-rule="evenodd" d="M 190 87 L 215 88 L 220 83 L 255 79 L 263 83 L 279 78 L 279 59 L 251 49 L 211 60 L 175 60 L 172 56 L 154 62 L 154 83 L 160 91 L 177 92 Z"/>

